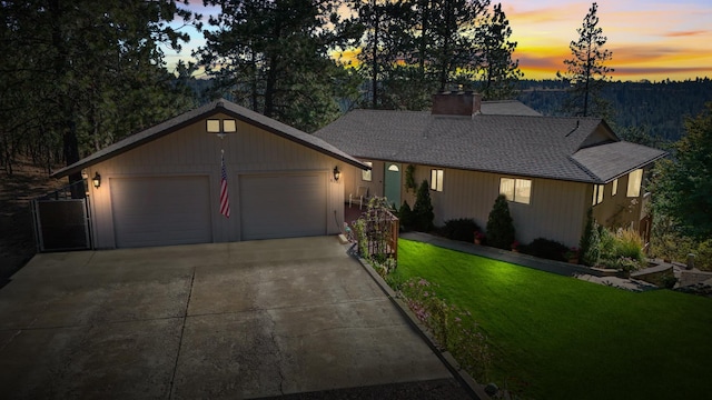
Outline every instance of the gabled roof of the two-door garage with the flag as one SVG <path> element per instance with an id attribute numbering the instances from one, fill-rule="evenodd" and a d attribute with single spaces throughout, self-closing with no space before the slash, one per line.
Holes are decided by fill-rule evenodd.
<path id="1" fill-rule="evenodd" d="M 235 104 L 228 100 L 221 99 L 221 100 L 212 101 L 197 109 L 190 110 L 188 112 L 185 112 L 178 117 L 171 118 L 167 121 L 164 121 L 141 132 L 135 133 L 123 140 L 120 140 L 111 146 L 108 146 L 102 150 L 95 152 L 93 154 L 87 158 L 83 158 L 72 163 L 71 166 L 65 167 L 53 172 L 51 176 L 53 178 L 61 178 L 75 172 L 79 172 L 87 167 L 93 166 L 103 160 L 125 153 L 131 149 L 146 144 L 166 134 L 170 134 L 181 128 L 185 128 L 189 124 L 196 123 L 202 119 L 209 118 L 218 113 L 224 113 L 239 121 L 261 128 L 268 132 L 271 132 L 281 138 L 290 140 L 295 143 L 305 146 L 307 148 L 310 148 L 313 150 L 316 150 L 320 153 L 333 157 L 337 160 L 344 161 L 357 168 L 369 169 L 368 166 L 364 164 L 363 162 L 358 161 L 357 159 L 347 154 L 346 152 L 337 149 L 332 143 L 327 143 L 326 141 L 313 134 L 303 132 L 296 128 L 289 127 L 277 120 L 265 117 L 258 112 L 251 111 L 241 106 Z"/>

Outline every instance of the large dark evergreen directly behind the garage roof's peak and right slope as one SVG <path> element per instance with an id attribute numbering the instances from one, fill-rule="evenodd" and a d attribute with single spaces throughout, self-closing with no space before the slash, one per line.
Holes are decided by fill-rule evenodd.
<path id="1" fill-rule="evenodd" d="M 336 0 L 207 0 L 220 6 L 197 51 L 238 103 L 310 131 L 337 116 L 328 51 L 340 42 Z"/>

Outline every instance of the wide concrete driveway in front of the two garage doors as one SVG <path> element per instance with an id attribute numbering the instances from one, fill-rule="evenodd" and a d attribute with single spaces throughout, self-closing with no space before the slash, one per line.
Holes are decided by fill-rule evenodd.
<path id="1" fill-rule="evenodd" d="M 0 289 L 1 397 L 464 394 L 346 250 L 322 237 L 38 254 Z"/>

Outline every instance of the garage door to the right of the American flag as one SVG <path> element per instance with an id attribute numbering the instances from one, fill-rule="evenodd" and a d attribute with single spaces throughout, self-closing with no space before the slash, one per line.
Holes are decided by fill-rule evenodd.
<path id="1" fill-rule="evenodd" d="M 240 177 L 243 240 L 326 234 L 326 176 Z"/>

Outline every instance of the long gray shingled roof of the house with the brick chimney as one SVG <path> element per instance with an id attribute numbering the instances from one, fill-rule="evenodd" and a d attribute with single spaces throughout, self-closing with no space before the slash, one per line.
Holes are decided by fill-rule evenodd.
<path id="1" fill-rule="evenodd" d="M 602 119 L 486 114 L 486 103 L 473 117 L 355 110 L 314 134 L 362 159 L 592 183 L 665 156 L 620 142 Z"/>

